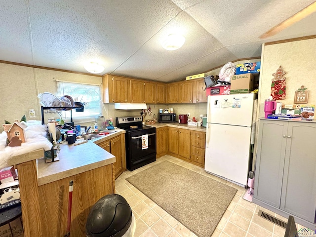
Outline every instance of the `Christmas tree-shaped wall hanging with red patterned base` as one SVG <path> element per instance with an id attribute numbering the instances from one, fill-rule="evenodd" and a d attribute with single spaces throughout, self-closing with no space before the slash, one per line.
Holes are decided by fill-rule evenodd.
<path id="1" fill-rule="evenodd" d="M 285 99 L 285 74 L 281 66 L 272 74 L 275 78 L 272 79 L 271 95 L 275 100 Z"/>

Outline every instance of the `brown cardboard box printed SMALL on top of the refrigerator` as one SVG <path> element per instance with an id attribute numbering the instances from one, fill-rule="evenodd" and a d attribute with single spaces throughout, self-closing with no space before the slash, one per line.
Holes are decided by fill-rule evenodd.
<path id="1" fill-rule="evenodd" d="M 231 94 L 250 93 L 253 90 L 254 76 L 251 73 L 235 75 L 231 79 Z"/>

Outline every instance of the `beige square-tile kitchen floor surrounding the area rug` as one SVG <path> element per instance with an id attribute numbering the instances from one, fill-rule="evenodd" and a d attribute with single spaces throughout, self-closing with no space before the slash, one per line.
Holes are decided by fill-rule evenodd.
<path id="1" fill-rule="evenodd" d="M 252 202 L 244 200 L 242 197 L 245 194 L 246 189 L 208 174 L 204 171 L 204 169 L 194 164 L 166 155 L 137 170 L 127 170 L 123 172 L 115 182 L 116 193 L 127 200 L 132 208 L 133 214 L 135 215 L 135 237 L 197 237 L 194 233 L 159 207 L 155 202 L 146 197 L 125 180 L 126 177 L 134 175 L 164 160 L 176 163 L 237 189 L 235 197 L 224 213 L 221 221 L 218 223 L 212 237 L 284 236 L 285 229 L 274 225 L 272 222 L 269 222 L 262 217 L 259 217 L 257 214 L 259 209 L 261 209 L 285 222 L 287 222 L 287 219 Z M 301 226 L 298 225 L 297 228 L 299 230 Z"/>

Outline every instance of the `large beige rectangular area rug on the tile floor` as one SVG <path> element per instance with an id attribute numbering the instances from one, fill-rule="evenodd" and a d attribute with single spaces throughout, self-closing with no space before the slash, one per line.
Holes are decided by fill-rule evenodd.
<path id="1" fill-rule="evenodd" d="M 163 161 L 128 182 L 198 237 L 210 237 L 237 189 Z"/>

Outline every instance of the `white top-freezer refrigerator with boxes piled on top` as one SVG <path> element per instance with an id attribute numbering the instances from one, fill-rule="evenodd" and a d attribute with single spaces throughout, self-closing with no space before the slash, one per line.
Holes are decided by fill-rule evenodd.
<path id="1" fill-rule="evenodd" d="M 208 96 L 205 171 L 246 187 L 255 94 Z"/>

